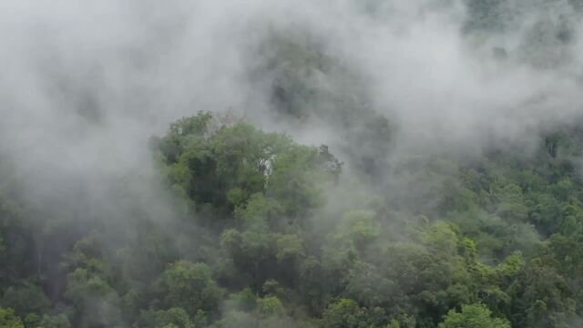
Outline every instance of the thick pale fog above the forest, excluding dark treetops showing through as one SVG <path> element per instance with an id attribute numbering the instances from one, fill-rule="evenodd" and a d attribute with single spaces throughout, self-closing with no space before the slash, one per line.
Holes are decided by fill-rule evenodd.
<path id="1" fill-rule="evenodd" d="M 152 175 L 148 137 L 199 110 L 231 110 L 333 151 L 342 130 L 274 120 L 270 77 L 250 80 L 264 59 L 255 50 L 273 30 L 306 31 L 367 81 L 373 109 L 397 127 L 386 140 L 394 153 L 528 144 L 530 131 L 581 109 L 580 34 L 557 67 L 533 66 L 513 51 L 537 15 L 509 19 L 505 34 L 465 36 L 465 5 L 456 1 L 5 0 L 1 154 L 15 162 L 31 200 L 80 196 L 99 215 L 112 189 L 146 192 L 126 181 Z M 493 56 L 496 47 L 508 56 Z"/>

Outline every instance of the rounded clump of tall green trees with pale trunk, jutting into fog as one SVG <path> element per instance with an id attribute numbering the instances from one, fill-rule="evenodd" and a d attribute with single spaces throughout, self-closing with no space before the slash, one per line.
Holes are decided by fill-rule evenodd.
<path id="1" fill-rule="evenodd" d="M 183 118 L 155 145 L 170 183 L 196 204 L 225 214 L 263 194 L 278 200 L 284 213 L 300 215 L 322 201 L 317 182 L 340 172 L 325 148 L 300 146 L 245 123 L 214 123 L 208 112 Z"/>

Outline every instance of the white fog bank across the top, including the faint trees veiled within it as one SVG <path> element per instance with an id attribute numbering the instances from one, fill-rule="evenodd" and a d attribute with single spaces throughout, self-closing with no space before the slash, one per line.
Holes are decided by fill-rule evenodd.
<path id="1" fill-rule="evenodd" d="M 148 144 L 209 110 L 329 145 L 363 194 L 331 190 L 326 210 L 386 186 L 426 205 L 409 202 L 443 181 L 414 183 L 409 159 L 534 151 L 580 121 L 580 3 L 3 0 L 0 175 L 38 220 L 102 222 L 112 240 L 135 233 L 129 217 L 195 230 L 166 224 L 180 209 Z"/>

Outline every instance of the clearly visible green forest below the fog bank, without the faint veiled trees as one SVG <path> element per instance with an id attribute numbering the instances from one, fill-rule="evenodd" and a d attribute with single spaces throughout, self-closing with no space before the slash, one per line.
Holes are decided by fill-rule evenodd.
<path id="1" fill-rule="evenodd" d="M 409 182 L 439 183 L 415 195 L 430 205 L 399 207 L 391 204 L 406 201 L 346 185 L 325 146 L 200 112 L 151 140 L 166 188 L 182 204 L 172 236 L 137 220 L 138 238 L 110 244 L 107 228 L 93 225 L 77 230 L 55 269 L 44 260 L 54 250 L 39 245 L 64 238 L 46 227 L 56 223 L 35 220 L 17 193 L 3 190 L 0 320 L 567 326 L 583 310 L 582 140 L 565 128 L 541 138 L 534 153 L 415 159 L 404 165 Z M 330 195 L 351 193 L 346 205 L 326 206 Z M 61 231 L 75 225 L 58 223 Z"/>

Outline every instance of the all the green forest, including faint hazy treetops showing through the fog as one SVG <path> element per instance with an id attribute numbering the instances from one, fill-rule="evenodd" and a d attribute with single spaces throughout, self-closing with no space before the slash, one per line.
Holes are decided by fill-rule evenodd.
<path id="1" fill-rule="evenodd" d="M 523 21 L 507 6 L 515 2 L 465 3 L 461 33 L 477 44 L 491 46 L 488 36 Z M 494 55 L 537 69 L 568 60 L 574 16 L 545 17 L 523 26 L 534 41 Z M 73 195 L 39 206 L 14 163 L 0 158 L 0 327 L 580 322 L 580 122 L 528 135 L 532 148 L 411 150 L 395 159 L 393 123 L 366 101 L 363 77 L 299 36 L 261 46 L 272 57 L 253 74 L 273 77 L 276 116 L 342 130 L 334 154 L 199 111 L 149 140 L 158 184 L 146 187 L 161 190 L 171 210 L 146 213 L 152 206 L 128 200 L 122 180 L 107 199 L 113 210 L 97 214 L 85 204 L 69 210 Z M 120 217 L 121 208 L 131 214 Z"/>

